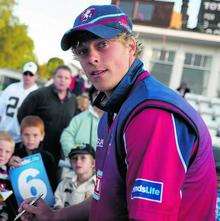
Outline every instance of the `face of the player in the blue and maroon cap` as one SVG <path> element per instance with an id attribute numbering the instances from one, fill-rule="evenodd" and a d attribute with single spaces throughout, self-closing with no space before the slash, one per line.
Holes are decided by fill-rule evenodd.
<path id="1" fill-rule="evenodd" d="M 97 90 L 111 92 L 135 59 L 135 41 L 123 44 L 118 38 L 82 43 L 74 52 L 88 79 Z"/>

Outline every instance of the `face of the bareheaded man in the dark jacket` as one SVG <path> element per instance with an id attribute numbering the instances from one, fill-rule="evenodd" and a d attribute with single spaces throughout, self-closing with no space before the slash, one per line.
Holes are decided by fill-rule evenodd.
<path id="1" fill-rule="evenodd" d="M 66 91 L 71 82 L 71 73 L 65 69 L 58 69 L 53 77 L 54 86 L 59 92 Z"/>

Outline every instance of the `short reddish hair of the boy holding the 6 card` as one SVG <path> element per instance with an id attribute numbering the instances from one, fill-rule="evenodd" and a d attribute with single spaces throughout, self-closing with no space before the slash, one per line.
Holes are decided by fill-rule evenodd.
<path id="1" fill-rule="evenodd" d="M 38 116 L 29 115 L 29 116 L 25 117 L 21 121 L 21 133 L 26 127 L 37 127 L 40 130 L 41 134 L 45 133 L 44 132 L 44 122 Z"/>

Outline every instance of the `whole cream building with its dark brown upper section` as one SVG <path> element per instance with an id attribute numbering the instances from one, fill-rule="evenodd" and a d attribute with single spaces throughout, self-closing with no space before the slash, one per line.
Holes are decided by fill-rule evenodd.
<path id="1" fill-rule="evenodd" d="M 220 37 L 186 29 L 188 0 L 183 0 L 183 14 L 173 11 L 172 2 L 112 3 L 132 19 L 144 47 L 141 58 L 153 75 L 173 89 L 184 81 L 192 93 L 220 97 Z"/>

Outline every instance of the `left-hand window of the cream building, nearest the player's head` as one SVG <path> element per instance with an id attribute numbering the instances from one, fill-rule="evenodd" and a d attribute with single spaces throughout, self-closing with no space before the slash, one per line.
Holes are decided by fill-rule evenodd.
<path id="1" fill-rule="evenodd" d="M 169 85 L 170 82 L 174 57 L 175 51 L 153 49 L 151 73 L 166 85 Z"/>

